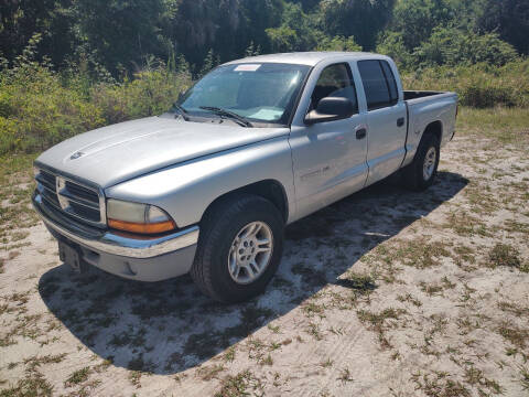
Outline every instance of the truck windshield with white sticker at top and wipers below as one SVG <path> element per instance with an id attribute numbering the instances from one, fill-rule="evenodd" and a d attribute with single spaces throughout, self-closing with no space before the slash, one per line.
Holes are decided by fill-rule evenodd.
<path id="1" fill-rule="evenodd" d="M 212 115 L 204 108 L 215 107 L 253 122 L 285 125 L 309 69 L 277 63 L 219 66 L 185 93 L 179 105 L 192 116 Z"/>

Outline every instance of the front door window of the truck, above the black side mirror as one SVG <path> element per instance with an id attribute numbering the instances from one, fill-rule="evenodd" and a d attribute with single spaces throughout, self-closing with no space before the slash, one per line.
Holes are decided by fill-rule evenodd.
<path id="1" fill-rule="evenodd" d="M 311 109 L 315 109 L 322 98 L 330 96 L 347 98 L 353 103 L 355 109 L 358 109 L 349 65 L 335 64 L 323 69 L 312 93 Z"/>

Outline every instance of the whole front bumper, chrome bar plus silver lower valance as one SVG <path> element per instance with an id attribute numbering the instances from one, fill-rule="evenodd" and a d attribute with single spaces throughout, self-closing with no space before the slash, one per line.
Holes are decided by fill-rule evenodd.
<path id="1" fill-rule="evenodd" d="M 43 202 L 37 191 L 33 207 L 52 235 L 78 248 L 82 259 L 101 270 L 139 281 L 160 281 L 190 271 L 198 226 L 158 237 L 134 236 L 80 224 Z"/>

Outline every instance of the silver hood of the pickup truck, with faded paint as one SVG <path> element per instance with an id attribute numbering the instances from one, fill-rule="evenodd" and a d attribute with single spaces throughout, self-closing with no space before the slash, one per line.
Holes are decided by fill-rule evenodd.
<path id="1" fill-rule="evenodd" d="M 284 127 L 245 128 L 230 121 L 148 117 L 69 138 L 35 162 L 105 189 L 168 165 L 288 133 Z"/>

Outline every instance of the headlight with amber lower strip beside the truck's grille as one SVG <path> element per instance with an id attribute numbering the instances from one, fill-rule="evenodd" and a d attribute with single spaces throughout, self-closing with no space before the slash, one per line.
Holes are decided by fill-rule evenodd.
<path id="1" fill-rule="evenodd" d="M 107 201 L 107 223 L 115 229 L 141 234 L 159 234 L 176 228 L 171 216 L 154 205 L 114 198 Z"/>

